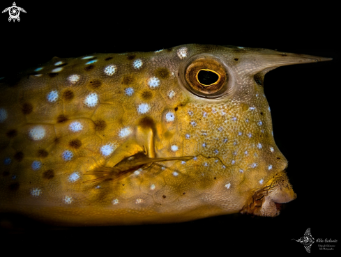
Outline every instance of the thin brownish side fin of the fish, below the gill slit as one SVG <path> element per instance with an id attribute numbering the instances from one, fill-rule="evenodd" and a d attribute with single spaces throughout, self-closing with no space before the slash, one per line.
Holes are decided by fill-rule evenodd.
<path id="1" fill-rule="evenodd" d="M 105 180 L 107 178 L 110 178 L 111 180 L 121 180 L 123 178 L 130 176 L 138 169 L 141 170 L 147 169 L 154 162 L 167 162 L 174 160 L 188 161 L 193 157 L 194 156 L 152 158 L 147 157 L 144 153 L 137 153 L 136 155 L 132 155 L 121 160 L 121 162 L 119 162 L 113 167 L 103 166 L 93 169 L 92 171 L 86 171 L 84 175 L 95 175 L 100 177 L 95 178 L 93 180 L 83 181 L 83 183 L 98 182 L 100 180 Z"/>

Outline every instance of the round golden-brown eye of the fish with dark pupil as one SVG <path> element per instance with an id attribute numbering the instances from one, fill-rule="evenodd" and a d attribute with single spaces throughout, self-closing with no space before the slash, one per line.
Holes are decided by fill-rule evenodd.
<path id="1" fill-rule="evenodd" d="M 208 54 L 195 56 L 185 66 L 185 88 L 202 98 L 221 98 L 229 93 L 229 73 L 220 59 Z"/>

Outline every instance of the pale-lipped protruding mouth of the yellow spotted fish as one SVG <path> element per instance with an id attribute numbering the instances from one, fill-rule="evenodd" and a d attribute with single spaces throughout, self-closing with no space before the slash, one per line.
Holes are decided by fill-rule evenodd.
<path id="1" fill-rule="evenodd" d="M 276 217 L 280 215 L 284 203 L 293 201 L 296 198 L 297 194 L 292 189 L 287 174 L 285 171 L 282 171 L 248 199 L 241 213 Z"/>

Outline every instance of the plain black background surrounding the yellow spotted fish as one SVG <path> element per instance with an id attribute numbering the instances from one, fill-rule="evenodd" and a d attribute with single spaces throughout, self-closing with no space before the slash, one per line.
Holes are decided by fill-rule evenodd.
<path id="1" fill-rule="evenodd" d="M 1 217 L 1 245 L 34 253 L 68 250 L 114 256 L 307 254 L 291 240 L 311 228 L 323 240 L 340 238 L 340 34 L 333 6 L 247 6 L 246 3 L 16 1 L 20 22 L 0 14 L 0 77 L 53 56 L 149 52 L 187 43 L 262 47 L 333 57 L 289 65 L 266 75 L 273 134 L 289 160 L 298 198 L 279 217 L 211 217 L 183 224 L 61 228 L 16 215 Z M 0 9 L 11 6 L 1 1 Z M 335 8 L 335 7 L 334 7 Z M 320 251 L 312 255 L 340 252 Z M 13 248 L 14 247 L 14 248 Z M 92 253 L 92 254 L 93 254 Z"/>

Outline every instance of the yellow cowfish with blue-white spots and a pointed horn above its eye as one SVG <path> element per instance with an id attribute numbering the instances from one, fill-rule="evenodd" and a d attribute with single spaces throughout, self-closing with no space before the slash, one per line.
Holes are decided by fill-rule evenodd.
<path id="1" fill-rule="evenodd" d="M 328 60 L 181 45 L 2 77 L 0 210 L 70 226 L 275 217 L 296 194 L 264 75 Z"/>

